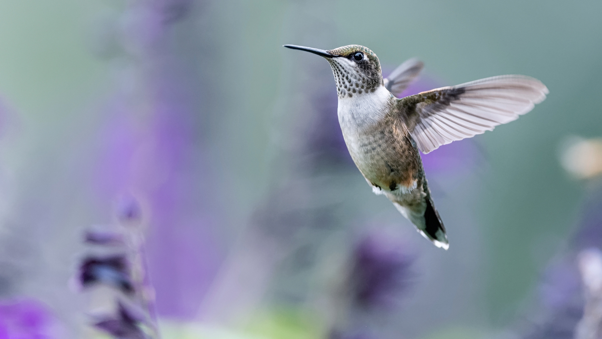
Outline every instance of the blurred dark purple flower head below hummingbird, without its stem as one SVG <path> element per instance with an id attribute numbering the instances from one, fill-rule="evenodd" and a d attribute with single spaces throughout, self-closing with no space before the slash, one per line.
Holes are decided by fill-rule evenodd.
<path id="1" fill-rule="evenodd" d="M 352 301 L 361 309 L 391 309 L 411 284 L 414 257 L 403 244 L 382 234 L 361 239 L 349 279 Z"/>

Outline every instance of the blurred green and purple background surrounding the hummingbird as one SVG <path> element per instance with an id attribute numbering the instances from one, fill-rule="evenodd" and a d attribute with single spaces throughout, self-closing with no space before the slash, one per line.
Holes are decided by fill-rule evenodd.
<path id="1" fill-rule="evenodd" d="M 144 235 L 129 251 L 164 338 L 573 338 L 588 302 L 578 253 L 602 246 L 600 13 L 600 1 L 0 2 L 0 338 L 107 335 L 91 314 L 114 295 L 92 290 L 113 278 L 69 283 L 92 226 Z M 418 57 L 404 95 L 501 74 L 550 94 L 423 156 L 445 252 L 372 194 L 329 65 L 285 43 L 365 45 L 385 73 Z"/>

